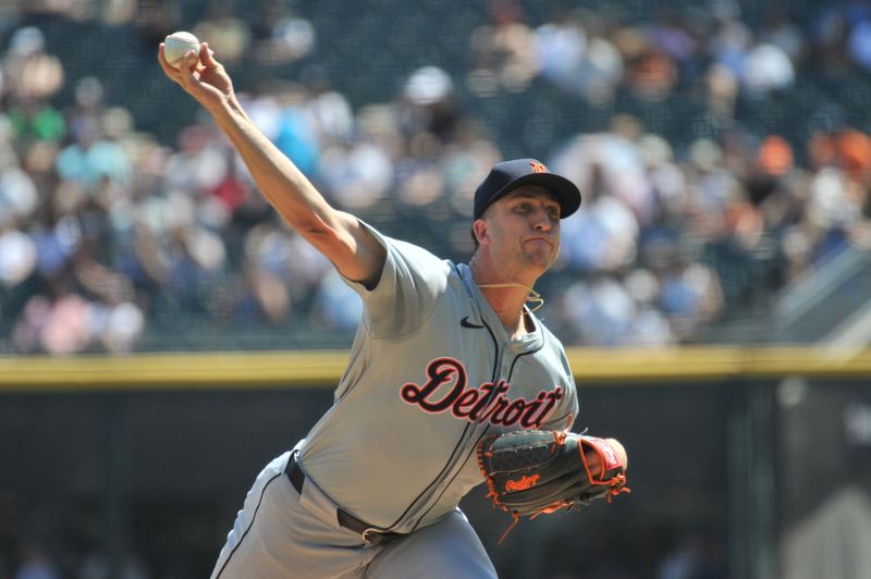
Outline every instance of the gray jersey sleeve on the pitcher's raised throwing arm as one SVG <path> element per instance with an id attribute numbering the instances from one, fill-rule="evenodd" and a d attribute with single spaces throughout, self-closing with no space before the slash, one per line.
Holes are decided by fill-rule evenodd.
<path id="1" fill-rule="evenodd" d="M 363 323 L 373 337 L 417 330 L 444 294 L 450 266 L 421 247 L 393 239 L 364 221 L 360 223 L 387 251 L 384 269 L 373 288 L 343 278 L 363 298 Z"/>

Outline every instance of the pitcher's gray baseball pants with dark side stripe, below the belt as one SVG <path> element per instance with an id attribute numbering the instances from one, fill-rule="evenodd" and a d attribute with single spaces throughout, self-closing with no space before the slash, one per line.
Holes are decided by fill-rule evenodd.
<path id="1" fill-rule="evenodd" d="M 380 546 L 339 525 L 336 505 L 315 484 L 302 495 L 284 470 L 291 453 L 257 477 L 221 550 L 211 579 L 495 578 L 466 516 L 444 519 Z"/>

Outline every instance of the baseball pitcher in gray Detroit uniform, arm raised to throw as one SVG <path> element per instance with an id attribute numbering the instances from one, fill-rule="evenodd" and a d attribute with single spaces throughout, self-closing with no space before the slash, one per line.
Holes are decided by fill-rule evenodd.
<path id="1" fill-rule="evenodd" d="M 527 306 L 580 205 L 572 182 L 535 159 L 498 163 L 475 194 L 475 254 L 453 263 L 330 207 L 247 116 L 208 44 L 179 69 L 162 44 L 158 58 L 364 303 L 334 404 L 260 472 L 213 579 L 495 577 L 457 507 L 474 486 L 515 522 L 627 491 L 619 443 L 568 431 L 572 371 Z"/>

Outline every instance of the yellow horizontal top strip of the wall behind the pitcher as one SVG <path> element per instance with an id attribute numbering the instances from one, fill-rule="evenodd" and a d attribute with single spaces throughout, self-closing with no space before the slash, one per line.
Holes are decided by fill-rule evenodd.
<path id="1" fill-rule="evenodd" d="M 813 347 L 568 348 L 576 380 L 593 384 L 725 379 L 870 378 L 871 349 Z M 0 392 L 99 392 L 332 386 L 347 353 L 220 352 L 0 358 Z"/>

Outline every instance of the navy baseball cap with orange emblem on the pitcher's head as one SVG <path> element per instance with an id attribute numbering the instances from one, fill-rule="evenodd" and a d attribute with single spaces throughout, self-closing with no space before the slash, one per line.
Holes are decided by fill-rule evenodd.
<path id="1" fill-rule="evenodd" d="M 475 215 L 479 219 L 493 202 L 524 185 L 544 187 L 560 202 L 560 219 L 565 219 L 580 207 L 580 190 L 564 176 L 551 173 L 536 159 L 515 159 L 493 165 L 475 190 Z"/>

